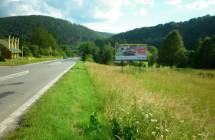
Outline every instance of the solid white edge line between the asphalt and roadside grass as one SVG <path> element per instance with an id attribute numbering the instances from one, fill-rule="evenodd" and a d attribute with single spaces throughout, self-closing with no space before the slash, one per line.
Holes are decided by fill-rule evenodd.
<path id="1" fill-rule="evenodd" d="M 66 72 L 68 72 L 74 65 L 72 64 L 62 73 L 60 73 L 54 80 L 49 82 L 45 87 L 39 90 L 32 98 L 26 101 L 21 107 L 14 111 L 8 118 L 0 123 L 0 138 L 4 135 L 7 129 L 13 129 L 15 127 L 18 118 L 37 100 L 39 99 L 51 86 L 53 86 Z"/>

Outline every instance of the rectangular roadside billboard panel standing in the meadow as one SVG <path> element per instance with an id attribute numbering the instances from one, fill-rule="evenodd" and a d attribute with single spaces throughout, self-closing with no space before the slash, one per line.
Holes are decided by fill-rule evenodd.
<path id="1" fill-rule="evenodd" d="M 119 44 L 115 46 L 116 61 L 122 60 L 146 60 L 147 45 L 146 44 Z"/>

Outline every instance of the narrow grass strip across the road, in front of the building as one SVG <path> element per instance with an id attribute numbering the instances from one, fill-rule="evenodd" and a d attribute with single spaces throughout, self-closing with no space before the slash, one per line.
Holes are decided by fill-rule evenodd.
<path id="1" fill-rule="evenodd" d="M 36 62 L 42 62 L 42 61 L 49 61 L 57 59 L 56 57 L 41 57 L 41 58 L 17 58 L 17 59 L 10 59 L 6 60 L 4 62 L 0 62 L 0 66 L 17 66 L 17 65 L 24 65 L 24 64 L 30 64 L 30 63 L 36 63 Z"/>

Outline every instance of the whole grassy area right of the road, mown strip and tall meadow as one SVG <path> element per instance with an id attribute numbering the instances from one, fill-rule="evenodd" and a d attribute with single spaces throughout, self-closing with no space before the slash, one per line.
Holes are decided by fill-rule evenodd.
<path id="1" fill-rule="evenodd" d="M 215 139 L 215 71 L 79 63 L 6 139 Z"/>

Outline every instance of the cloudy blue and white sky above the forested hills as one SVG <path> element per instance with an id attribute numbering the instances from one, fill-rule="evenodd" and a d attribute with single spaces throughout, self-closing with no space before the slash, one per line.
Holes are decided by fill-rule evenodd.
<path id="1" fill-rule="evenodd" d="M 0 0 L 0 17 L 46 15 L 119 33 L 215 15 L 215 0 Z"/>

